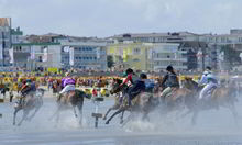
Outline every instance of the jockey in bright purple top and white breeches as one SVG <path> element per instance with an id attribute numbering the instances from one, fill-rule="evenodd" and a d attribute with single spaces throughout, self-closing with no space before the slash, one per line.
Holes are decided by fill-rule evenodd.
<path id="1" fill-rule="evenodd" d="M 59 92 L 61 94 L 75 90 L 76 80 L 70 77 L 69 72 L 66 72 L 66 77 L 62 80 L 64 89 Z"/>

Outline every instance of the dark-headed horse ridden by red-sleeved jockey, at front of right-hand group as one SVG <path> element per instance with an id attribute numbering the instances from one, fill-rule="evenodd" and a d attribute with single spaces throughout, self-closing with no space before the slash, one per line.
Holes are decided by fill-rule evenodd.
<path id="1" fill-rule="evenodd" d="M 107 120 L 108 114 L 112 111 L 112 110 L 118 110 L 119 108 L 121 108 L 122 105 L 122 101 L 123 101 L 123 96 L 127 92 L 127 88 L 128 86 L 124 85 L 122 88 L 120 87 L 120 85 L 123 81 L 121 79 L 113 79 L 113 85 L 112 85 L 112 89 L 110 90 L 111 94 L 116 94 L 114 96 L 114 105 L 112 105 L 111 108 L 108 109 L 108 111 L 106 112 L 103 120 Z M 121 94 L 122 93 L 122 94 Z M 123 122 L 123 115 L 124 115 L 124 111 L 122 112 L 121 115 L 121 120 L 120 123 Z"/>

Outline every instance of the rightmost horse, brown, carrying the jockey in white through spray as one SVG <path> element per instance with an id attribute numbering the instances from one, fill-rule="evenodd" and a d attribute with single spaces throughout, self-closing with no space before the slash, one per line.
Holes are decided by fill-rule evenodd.
<path id="1" fill-rule="evenodd" d="M 193 97 L 185 98 L 185 105 L 187 107 L 188 111 L 183 114 L 186 116 L 187 114 L 193 114 L 191 116 L 191 124 L 196 125 L 197 118 L 200 111 L 216 109 L 219 110 L 219 107 L 228 108 L 233 118 L 235 123 L 238 123 L 238 112 L 235 109 L 234 103 L 238 101 L 234 96 L 234 86 L 233 81 L 229 82 L 228 86 L 219 86 L 216 88 L 211 94 L 209 100 L 198 100 L 198 92 L 199 86 L 193 79 L 186 78 L 184 81 L 184 87 L 193 91 Z"/>

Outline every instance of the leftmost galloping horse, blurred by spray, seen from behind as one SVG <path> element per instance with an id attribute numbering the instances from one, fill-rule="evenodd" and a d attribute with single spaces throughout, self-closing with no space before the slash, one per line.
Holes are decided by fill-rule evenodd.
<path id="1" fill-rule="evenodd" d="M 13 113 L 13 125 L 15 125 L 16 120 L 16 113 L 20 110 L 23 110 L 23 116 L 21 121 L 18 123 L 18 126 L 22 124 L 24 120 L 31 121 L 37 111 L 43 105 L 43 96 L 44 96 L 45 89 L 36 89 L 36 91 L 29 92 L 24 98 L 23 96 L 20 98 L 19 103 L 16 102 L 14 105 L 14 113 Z M 32 93 L 32 94 L 30 94 Z M 34 110 L 34 113 L 30 116 L 30 111 Z"/>

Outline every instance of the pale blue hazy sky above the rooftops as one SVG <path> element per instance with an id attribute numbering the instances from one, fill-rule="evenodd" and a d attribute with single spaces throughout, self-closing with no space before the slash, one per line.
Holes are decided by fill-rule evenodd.
<path id="1" fill-rule="evenodd" d="M 0 0 L 0 18 L 24 34 L 107 37 L 123 33 L 229 33 L 242 0 Z"/>

